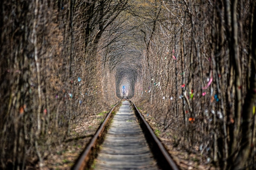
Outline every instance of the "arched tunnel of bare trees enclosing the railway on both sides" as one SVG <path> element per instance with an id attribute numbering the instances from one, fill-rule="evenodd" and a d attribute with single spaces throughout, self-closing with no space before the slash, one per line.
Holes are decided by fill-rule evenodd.
<path id="1" fill-rule="evenodd" d="M 43 165 L 123 96 L 187 152 L 256 166 L 255 0 L 1 0 L 0 169 Z"/>

